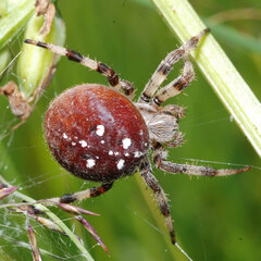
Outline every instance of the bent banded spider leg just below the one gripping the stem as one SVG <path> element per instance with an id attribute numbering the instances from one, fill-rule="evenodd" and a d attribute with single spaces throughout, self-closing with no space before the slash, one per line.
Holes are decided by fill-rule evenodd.
<path id="1" fill-rule="evenodd" d="M 182 75 L 160 89 L 153 98 L 153 103 L 161 105 L 165 100 L 179 95 L 194 79 L 192 63 L 185 57 Z"/>

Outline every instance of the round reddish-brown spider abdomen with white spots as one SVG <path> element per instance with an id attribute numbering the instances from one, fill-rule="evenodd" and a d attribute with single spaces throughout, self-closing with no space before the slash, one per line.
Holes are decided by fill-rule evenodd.
<path id="1" fill-rule="evenodd" d="M 136 107 L 95 84 L 67 89 L 51 102 L 45 135 L 63 167 L 95 182 L 133 174 L 149 149 L 148 128 Z"/>

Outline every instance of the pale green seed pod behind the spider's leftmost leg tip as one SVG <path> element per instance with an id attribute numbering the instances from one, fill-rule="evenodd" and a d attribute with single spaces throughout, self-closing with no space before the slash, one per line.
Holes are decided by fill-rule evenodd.
<path id="1" fill-rule="evenodd" d="M 28 22 L 25 30 L 25 38 L 45 40 L 57 45 L 63 45 L 65 39 L 65 27 L 62 18 L 55 16 L 52 22 L 50 34 L 45 37 L 39 30 L 45 23 L 44 16 L 34 15 Z M 51 78 L 50 69 L 58 62 L 55 54 L 44 49 L 34 48 L 33 46 L 23 44 L 22 53 L 17 63 L 17 75 L 20 78 L 20 90 L 28 99 L 36 88 L 38 88 L 46 78 Z M 45 88 L 49 84 L 45 83 Z"/>

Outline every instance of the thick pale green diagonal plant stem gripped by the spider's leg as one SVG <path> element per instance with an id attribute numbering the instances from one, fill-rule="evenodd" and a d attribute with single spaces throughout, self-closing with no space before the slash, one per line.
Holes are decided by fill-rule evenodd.
<path id="1" fill-rule="evenodd" d="M 151 0 L 185 42 L 206 28 L 187 0 Z M 261 157 L 261 103 L 212 35 L 191 53 L 203 75 Z"/>

